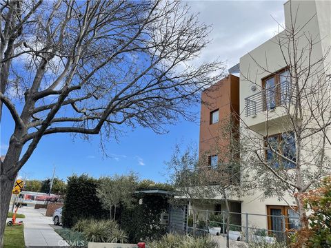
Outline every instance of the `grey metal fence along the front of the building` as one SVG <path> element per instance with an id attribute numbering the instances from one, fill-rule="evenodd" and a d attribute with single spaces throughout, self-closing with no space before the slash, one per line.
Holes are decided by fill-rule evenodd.
<path id="1" fill-rule="evenodd" d="M 203 236 L 207 234 L 229 236 L 232 240 L 283 242 L 288 240 L 293 229 L 299 227 L 299 217 L 268 215 L 268 214 L 248 214 L 226 211 L 210 211 L 195 209 L 197 213 L 197 223 L 192 221 L 192 211 L 189 216 L 183 218 L 183 225 L 173 225 L 170 221 L 170 231 L 180 234 L 192 234 L 193 225 L 196 226 L 196 234 Z M 229 216 L 229 227 L 227 228 L 227 216 Z M 260 218 L 260 219 L 259 219 Z M 256 223 L 271 224 L 270 228 L 261 228 Z M 268 225 L 267 225 L 268 226 Z"/>

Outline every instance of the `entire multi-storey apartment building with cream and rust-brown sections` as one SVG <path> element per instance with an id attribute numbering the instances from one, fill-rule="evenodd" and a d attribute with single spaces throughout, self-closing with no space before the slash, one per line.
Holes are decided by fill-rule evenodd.
<path id="1" fill-rule="evenodd" d="M 303 81 L 306 83 L 304 87 L 307 89 L 316 87 L 317 83 L 327 81 L 325 77 L 331 74 L 329 67 L 331 61 L 329 55 L 331 48 L 330 12 L 331 1 L 287 1 L 284 4 L 284 30 L 241 56 L 239 77 L 230 74 L 203 92 L 200 153 L 212 150 L 211 147 L 215 145 L 214 139 L 218 136 L 219 123 L 224 119 L 231 118 L 231 114 L 235 114 L 240 116 L 240 124 L 237 123 L 237 125 L 240 125 L 243 135 L 260 138 L 261 157 L 265 161 L 271 161 L 270 151 L 278 149 L 277 152 L 283 159 L 280 162 L 272 162 L 273 168 L 284 169 L 284 172 L 288 174 L 292 173 L 296 163 L 294 154 L 297 152 L 294 131 L 291 130 L 293 127 L 290 125 L 296 110 L 292 105 L 294 102 L 297 103 L 294 99 L 294 95 L 297 93 L 294 94 L 295 89 L 291 83 L 294 79 L 292 54 L 293 50 L 297 50 L 297 61 L 301 63 L 301 68 L 314 70 L 309 79 Z M 292 31 L 296 32 L 299 38 L 296 43 L 289 42 L 286 45 L 287 39 L 290 41 L 290 32 Z M 308 72 L 307 69 L 303 73 L 311 72 Z M 324 88 L 324 85 L 321 85 L 320 88 L 323 89 L 320 89 L 321 95 L 314 93 L 319 96 L 312 96 L 312 99 L 331 98 L 331 94 L 324 94 L 325 89 L 330 90 L 330 88 Z M 308 106 L 310 106 L 309 103 Z M 304 111 L 309 113 L 312 111 L 312 107 L 310 106 Z M 304 116 L 309 116 L 309 114 Z M 319 117 L 321 118 L 321 116 Z M 310 130 L 318 130 L 316 125 L 319 118 L 314 119 L 312 116 L 309 118 L 311 118 L 311 122 L 308 121 L 307 123 L 312 126 Z M 295 127 L 295 123 L 293 125 Z M 330 136 L 330 132 L 328 131 L 324 135 Z M 310 149 L 319 148 L 321 145 L 319 138 L 321 137 L 312 136 L 310 147 L 305 149 L 307 153 L 310 152 Z M 277 145 L 276 148 L 273 148 L 272 145 L 268 147 L 265 143 L 277 143 Z M 325 146 L 325 151 L 331 155 L 330 145 Z M 217 166 L 218 155 L 209 154 L 211 169 Z M 310 156 L 307 155 L 307 160 Z M 311 169 L 313 175 L 316 168 L 312 166 L 307 169 Z M 251 173 L 254 173 L 254 170 Z M 230 199 L 232 206 L 235 206 L 232 210 L 256 214 L 250 216 L 251 226 L 281 230 L 284 224 L 281 223 L 280 218 L 272 216 L 285 216 L 285 227 L 297 227 L 297 214 L 290 207 L 296 205 L 292 194 L 284 192 L 281 197 L 265 198 L 263 193 L 263 190 L 257 189 L 248 196 Z M 199 209 L 203 207 L 210 210 L 224 210 L 224 206 L 217 204 L 216 201 L 215 204 L 197 206 Z M 241 221 L 245 225 L 243 218 Z"/>

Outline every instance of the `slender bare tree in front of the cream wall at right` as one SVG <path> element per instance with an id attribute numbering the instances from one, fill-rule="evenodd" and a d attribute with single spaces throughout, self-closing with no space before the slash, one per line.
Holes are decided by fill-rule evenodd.
<path id="1" fill-rule="evenodd" d="M 245 131 L 241 137 L 248 141 L 248 161 L 255 171 L 252 176 L 265 196 L 283 200 L 285 193 L 293 196 L 297 207 L 291 202 L 288 205 L 298 212 L 304 226 L 306 212 L 300 197 L 331 172 L 330 48 L 323 48 L 319 34 L 310 32 L 309 25 L 317 16 L 308 17 L 299 25 L 300 7 L 292 8 L 292 3 L 289 4 L 291 23 L 272 39 L 281 54 L 279 66 L 283 70 L 273 72 L 268 56 L 261 62 L 250 55 L 259 74 L 272 75 L 278 84 L 267 82 L 263 86 L 251 71 L 241 73 L 245 81 L 260 91 L 255 99 L 246 99 L 246 118 L 241 118 Z M 247 118 L 259 114 L 251 113 L 251 107 L 259 107 L 259 103 L 265 124 L 257 130 L 248 125 Z"/>

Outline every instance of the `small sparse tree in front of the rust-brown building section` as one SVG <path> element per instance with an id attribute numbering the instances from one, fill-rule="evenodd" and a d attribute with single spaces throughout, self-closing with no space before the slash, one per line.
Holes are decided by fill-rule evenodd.
<path id="1" fill-rule="evenodd" d="M 250 177 L 251 169 L 246 166 L 245 142 L 240 139 L 239 116 L 231 114 L 222 116 L 212 145 L 199 158 L 199 170 L 205 174 L 205 181 L 212 185 L 210 191 L 214 196 L 221 196 L 225 203 L 226 247 L 230 247 L 230 201 L 250 194 L 255 182 Z M 217 154 L 217 161 L 212 164 L 211 154 Z"/>

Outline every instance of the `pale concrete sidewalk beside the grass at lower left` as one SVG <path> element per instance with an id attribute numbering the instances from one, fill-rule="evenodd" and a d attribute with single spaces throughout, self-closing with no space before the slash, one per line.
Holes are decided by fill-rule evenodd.
<path id="1" fill-rule="evenodd" d="M 69 247 L 68 243 L 50 226 L 52 217 L 46 217 L 46 209 L 21 207 L 19 214 L 24 214 L 24 241 L 26 247 Z"/>

